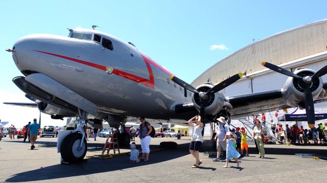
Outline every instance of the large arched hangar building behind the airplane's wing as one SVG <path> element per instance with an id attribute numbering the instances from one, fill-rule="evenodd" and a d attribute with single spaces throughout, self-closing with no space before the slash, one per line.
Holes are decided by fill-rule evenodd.
<path id="1" fill-rule="evenodd" d="M 300 67 L 317 71 L 324 67 L 327 65 L 327 19 L 256 41 L 208 68 L 191 85 L 197 87 L 207 82 L 208 77 L 217 84 L 241 72 L 246 73 L 242 79 L 222 91 L 226 96 L 281 89 L 288 76 L 265 68 L 261 65 L 262 61 L 290 71 Z M 327 74 L 322 76 L 322 80 L 327 82 Z M 315 111 L 327 112 L 326 102 L 316 103 Z M 274 115 L 269 116 L 276 121 Z"/>

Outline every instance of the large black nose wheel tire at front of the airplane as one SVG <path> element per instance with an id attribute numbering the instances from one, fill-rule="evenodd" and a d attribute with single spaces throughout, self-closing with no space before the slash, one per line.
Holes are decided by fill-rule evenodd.
<path id="1" fill-rule="evenodd" d="M 83 139 L 82 150 L 77 150 L 81 139 L 82 134 L 78 132 L 69 134 L 64 138 L 60 146 L 60 154 L 63 161 L 79 162 L 84 159 L 87 151 L 87 143 L 85 138 Z"/>

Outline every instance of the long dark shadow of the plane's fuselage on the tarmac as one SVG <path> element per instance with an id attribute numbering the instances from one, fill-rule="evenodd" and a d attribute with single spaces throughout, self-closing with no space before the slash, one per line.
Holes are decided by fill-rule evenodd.
<path id="1" fill-rule="evenodd" d="M 42 143 L 43 144 L 43 143 Z M 90 144 L 99 145 L 99 144 Z M 158 148 L 159 145 L 150 145 L 150 148 Z M 137 147 L 140 149 L 140 145 Z M 49 167 L 41 167 L 36 170 L 21 172 L 13 175 L 12 177 L 6 179 L 6 182 L 25 182 L 25 181 L 37 181 L 37 180 L 50 180 L 55 178 L 64 178 L 64 177 L 74 177 L 80 175 L 89 175 L 94 173 L 101 172 L 110 172 L 115 170 L 124 170 L 133 167 L 142 167 L 144 165 L 161 163 L 173 159 L 180 158 L 181 156 L 188 155 L 189 152 L 189 143 L 179 144 L 176 149 L 164 149 L 161 151 L 156 151 L 150 153 L 148 162 L 140 162 L 131 164 L 129 163 L 129 155 L 118 155 L 114 156 L 112 159 L 96 159 L 89 158 L 87 162 L 76 163 L 71 165 L 53 165 Z M 205 168 L 212 169 L 215 168 Z"/>

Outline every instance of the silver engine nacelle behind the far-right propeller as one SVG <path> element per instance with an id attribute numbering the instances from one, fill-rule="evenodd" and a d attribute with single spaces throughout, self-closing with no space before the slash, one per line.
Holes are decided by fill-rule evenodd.
<path id="1" fill-rule="evenodd" d="M 304 76 L 312 76 L 315 71 L 307 68 L 300 68 L 294 71 L 295 74 L 304 77 Z M 322 79 L 321 77 L 312 79 L 311 82 L 311 92 L 313 100 L 315 100 L 320 92 L 322 91 Z M 283 98 L 289 106 L 299 106 L 300 108 L 305 108 L 305 84 L 301 79 L 295 79 L 293 77 L 289 77 L 282 89 Z"/>

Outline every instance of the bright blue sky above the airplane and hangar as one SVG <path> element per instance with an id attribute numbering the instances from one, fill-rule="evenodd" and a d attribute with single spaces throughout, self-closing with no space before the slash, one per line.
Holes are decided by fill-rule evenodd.
<path id="1" fill-rule="evenodd" d="M 132 42 L 154 61 L 191 83 L 235 51 L 273 34 L 327 18 L 326 1 L 1 1 L 0 119 L 16 127 L 39 118 L 33 108 L 3 102 L 31 102 L 12 82 L 22 75 L 11 53 L 29 34 L 67 36 L 66 28 L 89 28 Z M 42 115 L 43 125 L 65 120 Z M 8 125 L 7 125 L 8 126 Z"/>

